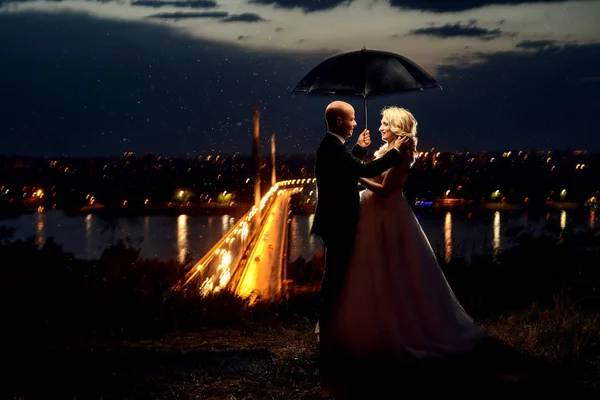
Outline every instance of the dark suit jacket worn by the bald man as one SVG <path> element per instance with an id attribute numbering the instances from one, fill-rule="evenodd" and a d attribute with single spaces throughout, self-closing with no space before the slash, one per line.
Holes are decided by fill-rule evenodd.
<path id="1" fill-rule="evenodd" d="M 360 207 L 358 178 L 372 178 L 402 162 L 396 150 L 372 162 L 362 161 L 366 153 L 359 145 L 351 152 L 329 133 L 321 140 L 315 162 L 317 208 L 312 234 L 323 237 L 345 232 L 354 237 Z"/>

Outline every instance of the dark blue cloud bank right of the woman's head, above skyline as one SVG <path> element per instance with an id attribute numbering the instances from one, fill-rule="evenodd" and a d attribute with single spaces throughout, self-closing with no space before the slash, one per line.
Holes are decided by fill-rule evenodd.
<path id="1" fill-rule="evenodd" d="M 600 45 L 477 56 L 477 65 L 442 67 L 443 90 L 399 101 L 415 111 L 423 146 L 600 149 L 600 82 L 585 81 L 600 70 Z"/>

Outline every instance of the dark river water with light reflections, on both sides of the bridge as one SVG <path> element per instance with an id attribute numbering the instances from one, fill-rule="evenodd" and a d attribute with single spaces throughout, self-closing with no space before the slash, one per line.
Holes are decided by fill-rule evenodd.
<path id="1" fill-rule="evenodd" d="M 461 212 L 444 214 L 417 213 L 419 222 L 434 249 L 445 259 L 451 256 L 469 258 L 473 251 L 489 246 L 497 252 L 510 241 L 507 229 L 517 226 L 541 227 L 554 220 L 567 226 L 594 228 L 594 211 L 581 213 L 556 211 L 541 215 L 494 212 L 473 217 Z M 318 238 L 310 235 L 314 215 L 292 215 L 289 243 L 290 260 L 302 256 L 310 260 L 322 250 Z M 231 227 L 231 216 L 143 216 L 106 220 L 99 215 L 65 216 L 62 211 L 43 210 L 19 218 L 0 221 L 16 228 L 15 239 L 33 236 L 41 245 L 53 237 L 63 249 L 79 258 L 98 258 L 102 250 L 117 239 L 129 238 L 139 243 L 143 257 L 182 261 L 189 252 L 199 260 Z M 216 283 L 216 282 L 215 282 Z"/>

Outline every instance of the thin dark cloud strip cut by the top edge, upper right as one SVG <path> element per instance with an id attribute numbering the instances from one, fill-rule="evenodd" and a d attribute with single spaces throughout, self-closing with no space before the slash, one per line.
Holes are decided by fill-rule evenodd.
<path id="1" fill-rule="evenodd" d="M 565 3 L 569 0 L 390 0 L 392 7 L 438 13 L 458 12 L 491 5 L 516 5 L 525 3 Z"/>

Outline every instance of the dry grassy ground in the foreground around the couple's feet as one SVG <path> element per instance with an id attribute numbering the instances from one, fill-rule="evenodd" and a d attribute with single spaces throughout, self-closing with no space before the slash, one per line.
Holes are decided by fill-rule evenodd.
<path id="1" fill-rule="evenodd" d="M 478 321 L 491 338 L 462 357 L 407 360 L 396 368 L 351 363 L 354 398 L 383 398 L 378 396 L 390 391 L 424 394 L 440 387 L 445 394 L 463 395 L 465 388 L 591 394 L 600 383 L 598 363 L 577 361 L 575 351 L 585 349 L 574 339 L 586 330 L 594 332 L 588 329 L 597 332 L 598 326 L 578 325 L 577 318 L 562 311 L 531 308 Z M 20 399 L 332 399 L 319 382 L 313 328 L 312 322 L 249 324 L 154 339 L 13 350 L 5 385 Z M 550 338 L 560 338 L 562 346 Z"/>

